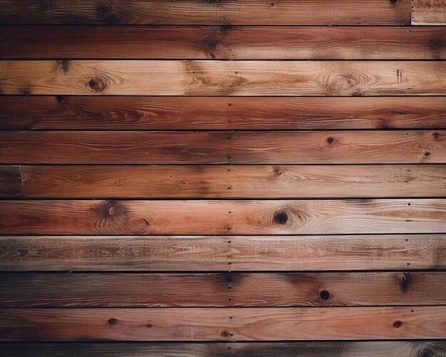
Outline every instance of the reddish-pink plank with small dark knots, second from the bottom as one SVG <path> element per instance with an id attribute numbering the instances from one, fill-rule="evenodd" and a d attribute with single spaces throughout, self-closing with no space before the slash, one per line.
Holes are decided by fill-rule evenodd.
<path id="1" fill-rule="evenodd" d="M 0 309 L 1 341 L 444 338 L 445 306 Z"/>

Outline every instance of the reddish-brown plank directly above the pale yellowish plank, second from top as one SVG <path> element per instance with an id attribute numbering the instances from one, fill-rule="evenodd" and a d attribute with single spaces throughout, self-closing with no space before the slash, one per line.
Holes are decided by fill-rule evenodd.
<path id="1" fill-rule="evenodd" d="M 442 27 L 1 26 L 0 58 L 445 59 Z"/>

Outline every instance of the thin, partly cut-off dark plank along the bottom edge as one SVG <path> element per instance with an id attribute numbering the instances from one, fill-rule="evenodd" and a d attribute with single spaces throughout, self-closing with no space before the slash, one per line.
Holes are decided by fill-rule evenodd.
<path id="1" fill-rule="evenodd" d="M 1 343 L 6 356 L 70 357 L 416 357 L 442 356 L 445 341 L 318 341 L 244 343 Z"/>

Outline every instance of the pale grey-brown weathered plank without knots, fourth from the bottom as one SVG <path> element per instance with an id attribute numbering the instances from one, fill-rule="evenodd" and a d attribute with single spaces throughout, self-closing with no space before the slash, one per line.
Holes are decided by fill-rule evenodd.
<path id="1" fill-rule="evenodd" d="M 446 269 L 444 234 L 0 237 L 1 271 Z M 441 289 L 440 289 L 441 291 Z"/>

